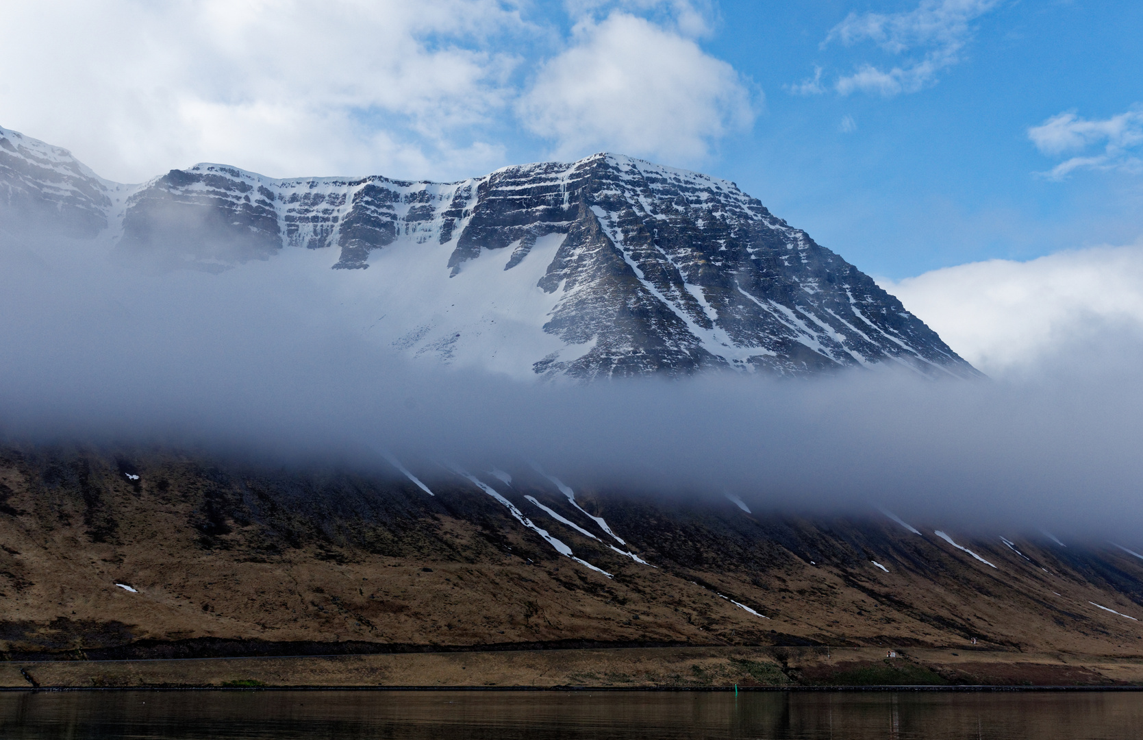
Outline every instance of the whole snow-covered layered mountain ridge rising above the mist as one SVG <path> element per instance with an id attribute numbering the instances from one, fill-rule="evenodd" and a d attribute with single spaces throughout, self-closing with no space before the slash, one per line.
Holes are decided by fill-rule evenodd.
<path id="1" fill-rule="evenodd" d="M 620 154 L 455 183 L 201 164 L 123 185 L 0 128 L 0 229 L 206 270 L 328 253 L 345 288 L 368 296 L 378 341 L 515 375 L 977 375 L 869 276 L 734 183 Z"/>

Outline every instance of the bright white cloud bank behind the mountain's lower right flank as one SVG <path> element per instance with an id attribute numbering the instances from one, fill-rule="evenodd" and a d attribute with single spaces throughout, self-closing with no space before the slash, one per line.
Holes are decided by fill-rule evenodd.
<path id="1" fill-rule="evenodd" d="M 1143 242 L 880 283 L 989 374 L 1028 371 L 1085 342 L 1121 342 L 1143 332 Z"/>

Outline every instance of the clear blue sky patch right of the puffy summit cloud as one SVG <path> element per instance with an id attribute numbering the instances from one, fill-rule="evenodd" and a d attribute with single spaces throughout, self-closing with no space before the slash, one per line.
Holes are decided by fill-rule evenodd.
<path id="1" fill-rule="evenodd" d="M 777 5 L 720 6 L 708 48 L 767 97 L 750 133 L 724 142 L 712 169 L 823 244 L 866 271 L 903 277 L 1138 238 L 1137 172 L 1038 176 L 1065 157 L 1039 151 L 1028 129 L 1065 111 L 1109 119 L 1143 101 L 1143 3 L 998 2 L 970 22 L 959 61 L 919 90 L 888 97 L 783 87 L 814 65 L 831 80 L 863 63 L 916 58 L 870 41 L 821 42 L 852 11 L 901 13 L 917 2 Z"/>

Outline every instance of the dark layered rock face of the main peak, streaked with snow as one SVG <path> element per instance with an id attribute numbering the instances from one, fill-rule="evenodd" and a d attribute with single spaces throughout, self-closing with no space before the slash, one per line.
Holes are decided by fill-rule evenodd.
<path id="1" fill-rule="evenodd" d="M 596 345 L 570 363 L 539 360 L 537 373 L 902 363 L 974 374 L 869 276 L 733 183 L 641 160 L 597 154 L 489 176 L 449 266 L 515 245 L 511 269 L 553 232 L 567 238 L 539 286 L 566 297 L 544 329 Z"/>

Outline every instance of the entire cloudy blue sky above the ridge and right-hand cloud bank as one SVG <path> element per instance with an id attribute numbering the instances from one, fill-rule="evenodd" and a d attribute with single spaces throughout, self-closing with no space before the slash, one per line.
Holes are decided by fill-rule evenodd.
<path id="1" fill-rule="evenodd" d="M 1140 239 L 1141 38 L 1095 0 L 45 0 L 0 27 L 0 125 L 126 182 L 620 151 L 900 280 Z"/>

